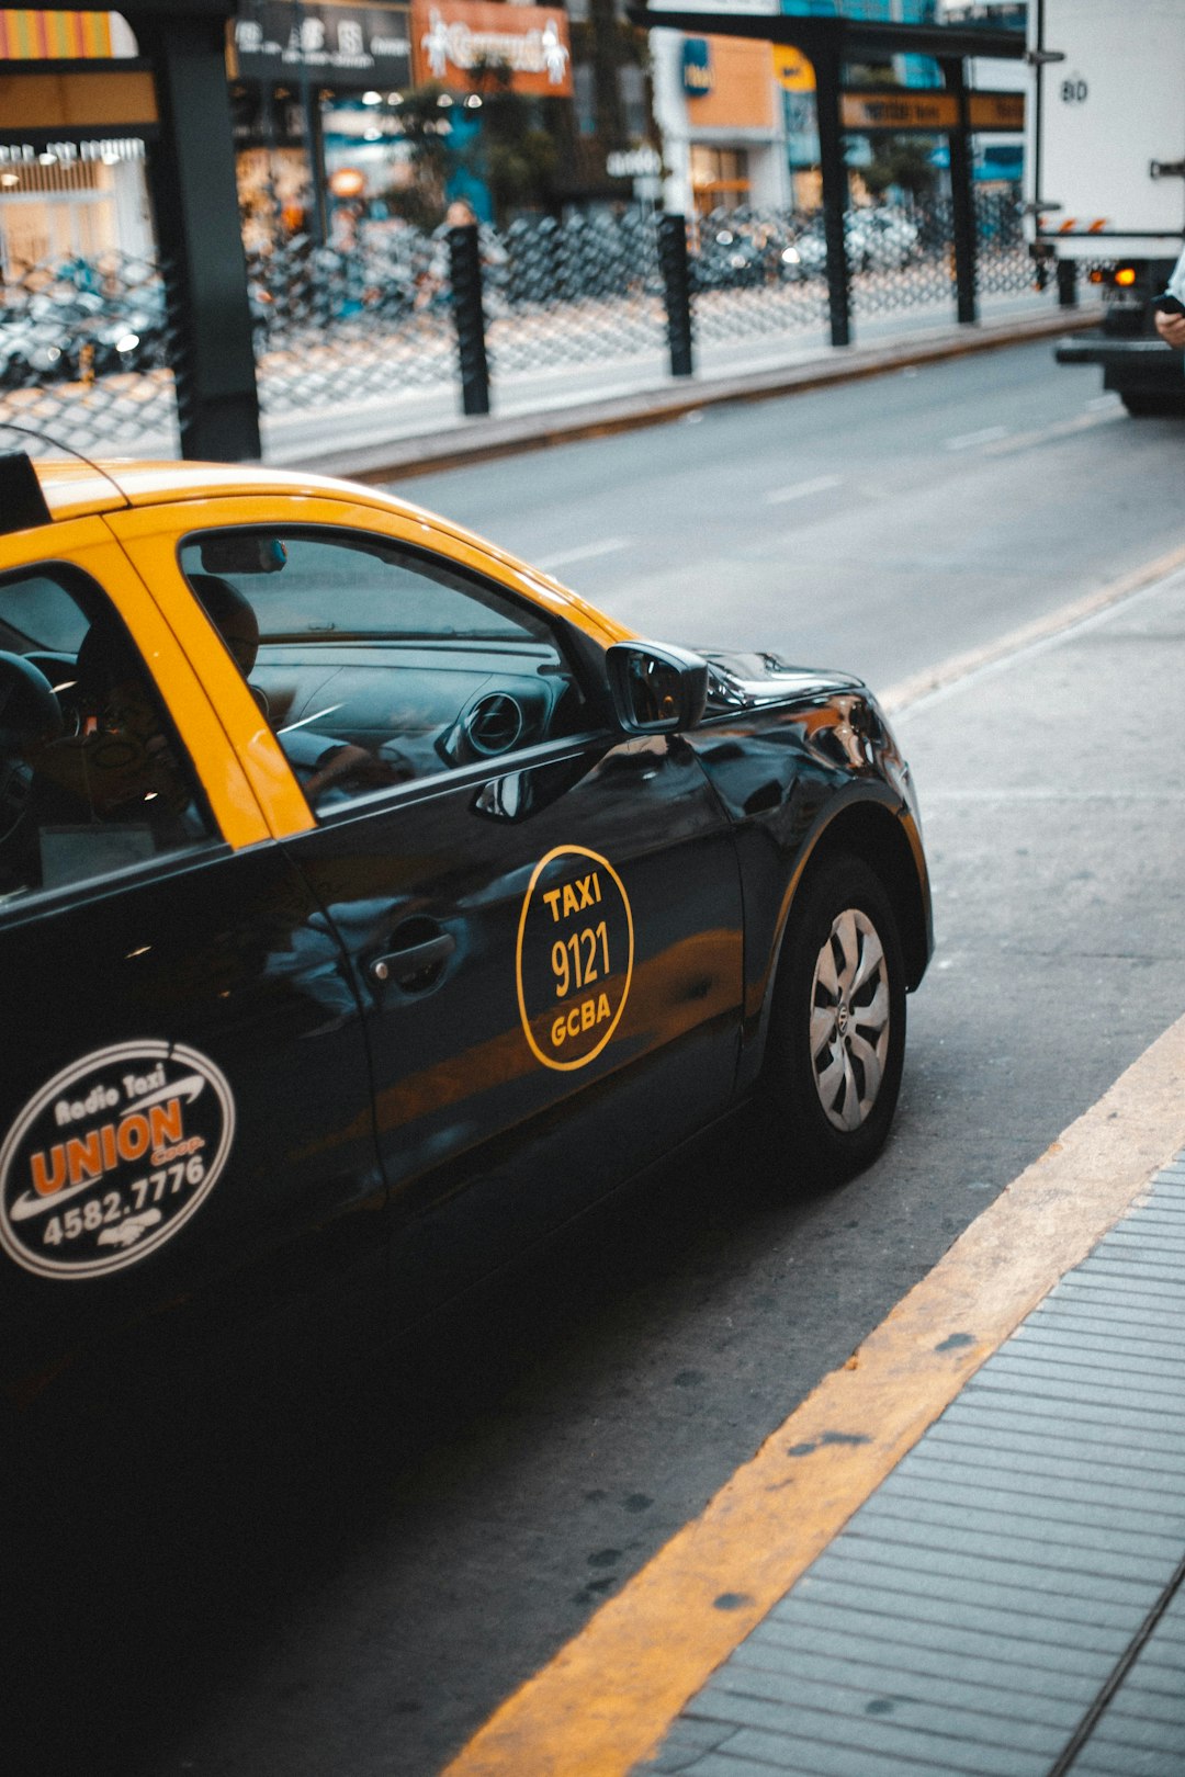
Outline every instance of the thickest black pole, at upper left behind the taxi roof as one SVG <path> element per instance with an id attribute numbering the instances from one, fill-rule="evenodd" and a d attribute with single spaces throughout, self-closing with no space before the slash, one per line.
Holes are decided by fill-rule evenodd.
<path id="1" fill-rule="evenodd" d="M 224 20 L 137 12 L 153 64 L 160 140 L 149 146 L 156 242 L 169 318 L 181 455 L 259 457 L 259 396 L 238 220 Z"/>

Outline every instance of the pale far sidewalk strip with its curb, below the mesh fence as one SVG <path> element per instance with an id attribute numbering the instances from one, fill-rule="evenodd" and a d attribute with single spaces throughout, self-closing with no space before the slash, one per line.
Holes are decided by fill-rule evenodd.
<path id="1" fill-rule="evenodd" d="M 1101 306 L 1057 309 L 1048 297 L 986 299 L 975 325 L 936 323 L 933 311 L 858 322 L 851 347 L 803 334 L 705 345 L 696 375 L 672 377 L 661 359 L 620 359 L 494 382 L 494 410 L 465 418 L 457 389 L 405 389 L 382 402 L 263 419 L 265 462 L 361 482 L 449 469 L 464 462 L 679 419 L 720 402 L 767 400 L 984 352 L 1054 341 L 1098 325 Z"/>

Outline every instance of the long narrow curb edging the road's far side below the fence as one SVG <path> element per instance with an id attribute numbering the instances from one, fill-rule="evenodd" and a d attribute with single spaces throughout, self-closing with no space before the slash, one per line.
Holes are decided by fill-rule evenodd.
<path id="1" fill-rule="evenodd" d="M 881 377 L 910 364 L 936 364 L 950 357 L 966 357 L 972 352 L 995 352 L 1009 345 L 1055 339 L 1066 332 L 1096 327 L 1100 318 L 1101 307 L 1059 309 L 1055 315 L 1034 316 L 1032 320 L 975 323 L 974 329 L 959 327 L 929 336 L 920 334 L 915 343 L 839 347 L 831 348 L 837 352 L 835 357 L 808 364 L 721 375 L 705 382 L 689 380 L 608 402 L 583 402 L 556 412 L 508 414 L 506 418 L 492 414 L 483 419 L 462 421 L 457 428 L 442 432 L 391 439 L 386 444 L 359 450 L 300 457 L 288 462 L 286 467 L 345 476 L 370 485 L 407 480 L 416 474 L 489 462 L 496 457 L 545 450 L 553 444 L 570 444 L 577 439 L 670 425 L 704 407 L 803 394 L 842 382 L 858 382 L 865 377 Z"/>

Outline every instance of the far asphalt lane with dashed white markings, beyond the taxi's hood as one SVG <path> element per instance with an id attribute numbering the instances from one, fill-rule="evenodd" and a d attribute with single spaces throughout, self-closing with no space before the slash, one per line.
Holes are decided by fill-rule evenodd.
<path id="1" fill-rule="evenodd" d="M 402 490 L 643 634 L 881 689 L 1180 535 L 1176 434 L 1048 343 L 704 409 Z"/>

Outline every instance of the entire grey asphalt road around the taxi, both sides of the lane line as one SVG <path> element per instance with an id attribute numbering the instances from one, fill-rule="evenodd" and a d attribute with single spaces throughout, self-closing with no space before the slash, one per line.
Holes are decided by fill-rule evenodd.
<path id="1" fill-rule="evenodd" d="M 656 636 L 892 686 L 1180 549 L 1183 448 L 1041 347 L 409 490 Z M 1180 1015 L 1183 638 L 1137 597 L 903 713 L 940 949 L 863 1178 L 785 1201 L 730 1128 L 398 1358 L 309 1331 L 78 1452 L 43 1768 L 439 1772 Z"/>

